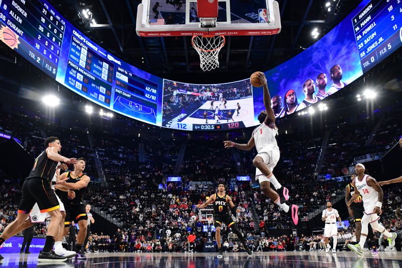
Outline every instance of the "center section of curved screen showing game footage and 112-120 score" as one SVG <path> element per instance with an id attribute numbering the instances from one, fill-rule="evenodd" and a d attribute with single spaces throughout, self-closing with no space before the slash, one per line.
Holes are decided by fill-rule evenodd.
<path id="1" fill-rule="evenodd" d="M 223 130 L 254 126 L 249 79 L 223 84 L 163 80 L 162 126 L 184 130 Z"/>

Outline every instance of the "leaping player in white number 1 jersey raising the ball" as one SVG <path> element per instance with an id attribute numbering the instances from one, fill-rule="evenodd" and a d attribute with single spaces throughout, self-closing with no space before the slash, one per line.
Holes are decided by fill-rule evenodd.
<path id="1" fill-rule="evenodd" d="M 275 125 L 275 114 L 271 108 L 271 97 L 269 95 L 267 79 L 264 73 L 259 72 L 260 82 L 264 85 L 263 99 L 265 111 L 258 116 L 259 125 L 251 136 L 247 144 L 237 144 L 233 141 L 224 141 L 225 148 L 235 147 L 240 150 L 251 150 L 254 146 L 258 154 L 253 160 L 256 167 L 255 180 L 260 183 L 261 191 L 264 192 L 275 204 L 289 214 L 292 222 L 297 225 L 297 206 L 289 207 L 285 201 L 289 199 L 289 191 L 280 185 L 274 174 L 273 168 L 279 160 L 279 147 L 275 136 L 278 134 L 278 128 Z M 279 192 L 279 195 L 271 189 L 271 184 Z"/>

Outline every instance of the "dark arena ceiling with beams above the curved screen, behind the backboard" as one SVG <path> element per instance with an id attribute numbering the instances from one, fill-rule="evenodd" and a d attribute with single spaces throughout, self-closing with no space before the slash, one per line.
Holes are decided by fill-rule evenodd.
<path id="1" fill-rule="evenodd" d="M 138 0 L 50 2 L 78 29 L 127 62 L 161 77 L 189 82 L 202 82 L 200 79 L 206 75 L 211 80 L 233 81 L 247 77 L 251 71 L 267 70 L 280 64 L 318 40 L 312 37 L 313 29 L 318 29 L 318 38 L 321 38 L 359 3 L 350 0 L 277 1 L 281 14 L 281 33 L 273 36 L 227 37 L 226 45 L 220 52 L 221 66 L 209 74 L 199 68 L 199 57 L 191 47 L 190 37 L 137 36 Z M 330 4 L 330 11 L 327 3 Z M 82 16 L 82 9 L 91 11 L 96 27 Z M 197 78 L 192 79 L 188 75 L 182 77 L 189 72 L 197 73 Z"/>

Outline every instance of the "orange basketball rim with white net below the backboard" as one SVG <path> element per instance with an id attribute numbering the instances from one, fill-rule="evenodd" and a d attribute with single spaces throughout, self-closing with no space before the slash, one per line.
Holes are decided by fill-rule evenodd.
<path id="1" fill-rule="evenodd" d="M 191 45 L 198 52 L 200 64 L 203 71 L 210 71 L 219 67 L 218 54 L 225 45 L 223 35 L 194 35 Z"/>

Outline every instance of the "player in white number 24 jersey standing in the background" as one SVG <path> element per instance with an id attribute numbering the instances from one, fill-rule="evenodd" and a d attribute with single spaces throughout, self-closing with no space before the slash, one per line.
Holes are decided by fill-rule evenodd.
<path id="1" fill-rule="evenodd" d="M 325 221 L 324 241 L 327 245 L 325 252 L 328 252 L 331 249 L 329 238 L 332 236 L 332 238 L 334 239 L 332 253 L 336 253 L 336 245 L 338 243 L 338 226 L 336 226 L 336 220 L 338 219 L 339 226 L 342 225 L 342 220 L 341 217 L 339 217 L 338 211 L 332 208 L 331 202 L 327 202 L 327 208 L 323 210 L 323 215 L 321 216 L 321 219 Z"/>

